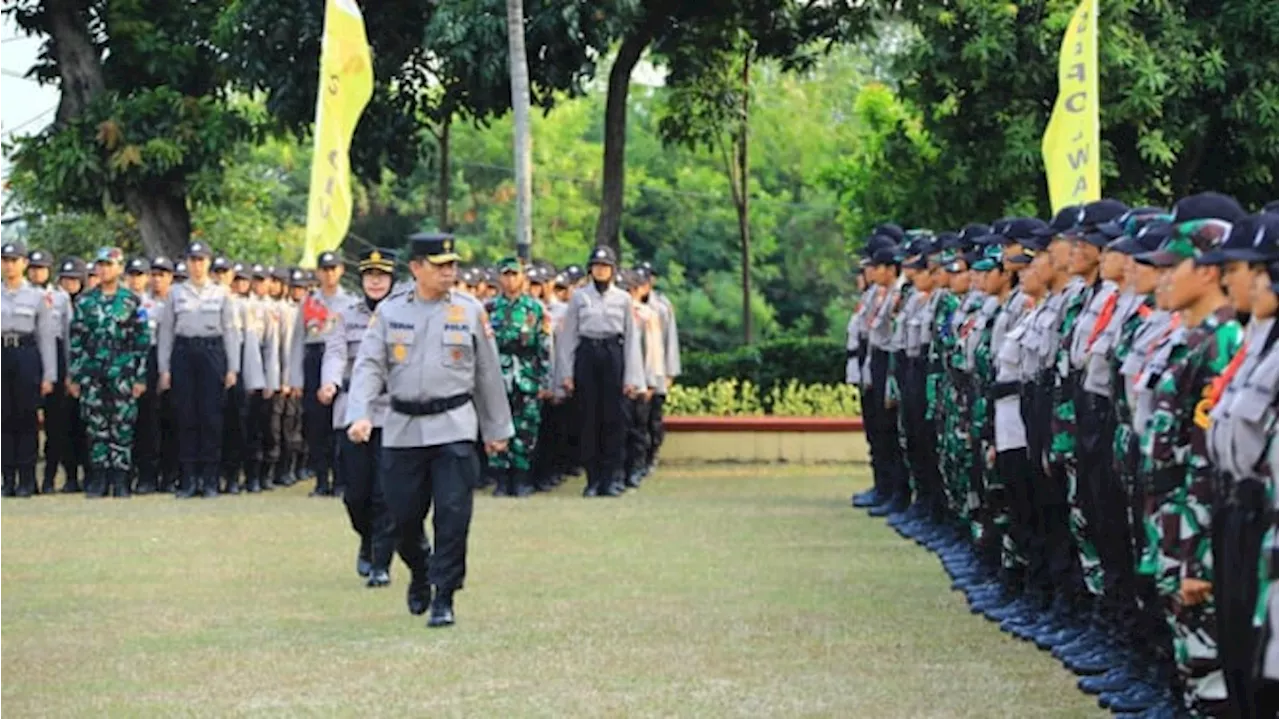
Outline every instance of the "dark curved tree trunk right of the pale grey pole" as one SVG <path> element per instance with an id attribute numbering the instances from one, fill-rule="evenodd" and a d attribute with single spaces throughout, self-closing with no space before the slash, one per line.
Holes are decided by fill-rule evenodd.
<path id="1" fill-rule="evenodd" d="M 622 193 L 626 188 L 627 93 L 631 90 L 631 70 L 652 38 L 653 29 L 645 26 L 622 41 L 609 70 L 609 93 L 604 104 L 604 178 L 595 244 L 609 246 L 620 256 L 622 243 L 618 233 L 622 228 Z"/>

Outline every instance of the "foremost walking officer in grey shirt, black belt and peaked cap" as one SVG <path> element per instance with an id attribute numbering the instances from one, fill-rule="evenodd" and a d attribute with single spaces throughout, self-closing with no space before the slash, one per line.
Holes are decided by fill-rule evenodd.
<path id="1" fill-rule="evenodd" d="M 488 454 L 515 434 L 494 331 L 483 304 L 453 289 L 458 256 L 447 234 L 410 238 L 412 293 L 378 306 L 356 358 L 347 404 L 352 441 L 372 438 L 384 388 L 381 484 L 411 568 L 408 609 L 429 627 L 453 624 L 453 595 L 466 578 L 476 438 Z M 435 550 L 422 522 L 434 507 Z"/>

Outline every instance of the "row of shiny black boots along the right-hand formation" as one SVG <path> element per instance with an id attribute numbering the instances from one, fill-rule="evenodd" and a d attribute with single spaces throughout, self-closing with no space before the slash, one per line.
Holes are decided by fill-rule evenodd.
<path id="1" fill-rule="evenodd" d="M 873 489 L 855 495 L 854 505 L 887 516 L 888 526 L 901 536 L 937 554 L 951 589 L 964 592 L 970 613 L 1051 652 L 1102 709 L 1126 719 L 1192 716 L 1167 650 L 1172 644 L 1169 626 L 1157 606 L 1135 612 L 1087 595 L 1083 587 L 1032 586 L 1020 572 L 1001 567 L 998 551 L 975 546 L 968 522 L 947 517 L 931 503 L 908 505 L 901 498 L 878 496 Z"/>

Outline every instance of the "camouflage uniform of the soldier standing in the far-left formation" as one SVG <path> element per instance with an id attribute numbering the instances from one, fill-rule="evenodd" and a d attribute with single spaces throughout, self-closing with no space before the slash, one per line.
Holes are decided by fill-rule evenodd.
<path id="1" fill-rule="evenodd" d="M 131 468 L 138 403 L 133 385 L 145 385 L 151 330 L 137 294 L 92 289 L 76 301 L 68 375 L 81 388 L 81 415 L 88 432 L 88 463 L 95 472 Z M 118 477 L 119 478 L 119 477 Z"/>

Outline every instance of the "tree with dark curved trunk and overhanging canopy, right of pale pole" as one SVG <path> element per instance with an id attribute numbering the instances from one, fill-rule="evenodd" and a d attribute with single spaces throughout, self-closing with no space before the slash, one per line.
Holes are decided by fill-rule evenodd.
<path id="1" fill-rule="evenodd" d="M 604 110 L 604 165 L 596 244 L 620 247 L 626 194 L 627 96 L 631 73 L 646 50 L 664 60 L 668 84 L 696 83 L 716 70 L 714 58 L 737 49 L 742 36 L 753 55 L 783 69 L 806 68 L 831 43 L 860 36 L 869 27 L 869 4 L 859 0 L 613 0 L 609 17 L 622 38 L 609 69 Z"/>

